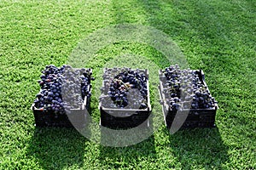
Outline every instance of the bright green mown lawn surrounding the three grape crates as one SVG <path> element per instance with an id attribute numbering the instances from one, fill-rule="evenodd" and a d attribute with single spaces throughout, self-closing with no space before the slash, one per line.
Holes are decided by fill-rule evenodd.
<path id="1" fill-rule="evenodd" d="M 255 169 L 255 10 L 254 0 L 0 1 L 0 169 Z M 110 148 L 73 129 L 33 126 L 44 66 L 65 64 L 90 33 L 122 23 L 165 32 L 190 68 L 203 69 L 220 107 L 217 128 L 169 135 L 162 126 L 140 144 Z M 153 48 L 128 42 L 87 65 L 99 71 L 124 47 L 166 66 Z"/>

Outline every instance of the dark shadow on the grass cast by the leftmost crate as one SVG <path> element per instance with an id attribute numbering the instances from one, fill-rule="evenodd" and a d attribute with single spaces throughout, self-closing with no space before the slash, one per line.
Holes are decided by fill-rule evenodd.
<path id="1" fill-rule="evenodd" d="M 36 127 L 26 156 L 44 169 L 79 168 L 84 164 L 86 140 L 74 128 Z"/>

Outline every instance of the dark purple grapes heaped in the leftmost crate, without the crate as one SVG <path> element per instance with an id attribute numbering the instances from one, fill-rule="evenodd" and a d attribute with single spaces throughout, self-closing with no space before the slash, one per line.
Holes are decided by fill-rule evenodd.
<path id="1" fill-rule="evenodd" d="M 64 114 L 70 109 L 79 108 L 84 97 L 90 96 L 90 69 L 74 71 L 70 65 L 60 68 L 47 65 L 42 73 L 38 81 L 41 90 L 34 100 L 38 109 Z"/>

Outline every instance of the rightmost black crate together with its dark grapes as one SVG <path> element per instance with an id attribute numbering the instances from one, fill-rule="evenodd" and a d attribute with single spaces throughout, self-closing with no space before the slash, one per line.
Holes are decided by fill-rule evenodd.
<path id="1" fill-rule="evenodd" d="M 181 70 L 171 65 L 160 74 L 160 97 L 166 127 L 215 127 L 217 101 L 212 97 L 201 70 Z M 184 118 L 182 118 L 184 117 Z"/>

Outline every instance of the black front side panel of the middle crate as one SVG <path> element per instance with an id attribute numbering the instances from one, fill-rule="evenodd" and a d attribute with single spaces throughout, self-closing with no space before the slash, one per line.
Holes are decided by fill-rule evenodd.
<path id="1" fill-rule="evenodd" d="M 109 110 L 101 111 L 101 123 L 104 127 L 109 128 L 132 128 L 137 127 L 148 119 L 150 115 L 149 110 L 147 111 L 126 111 L 130 116 L 118 116 L 120 114 L 125 114 L 124 110 L 115 110 L 109 113 Z M 133 114 L 132 114 L 133 112 Z M 116 116 L 115 116 L 116 115 Z"/>

